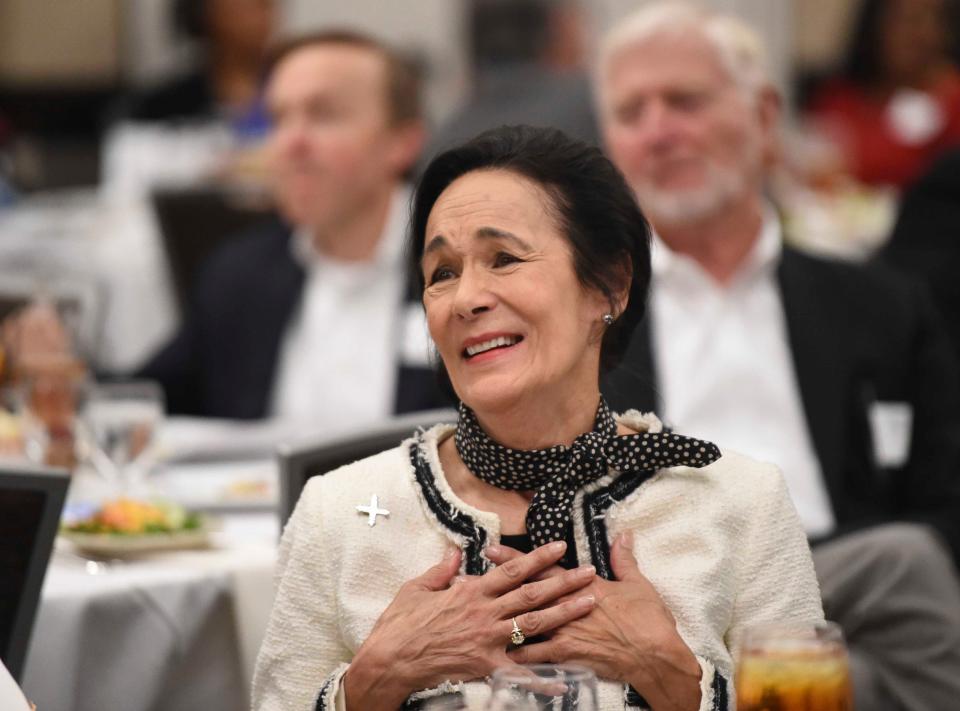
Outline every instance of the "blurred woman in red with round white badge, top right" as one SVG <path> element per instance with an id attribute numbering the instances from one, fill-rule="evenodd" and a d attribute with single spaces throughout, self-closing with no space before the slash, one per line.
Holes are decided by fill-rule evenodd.
<path id="1" fill-rule="evenodd" d="M 842 164 L 871 185 L 903 188 L 960 144 L 957 0 L 865 0 L 845 66 L 809 115 Z"/>

